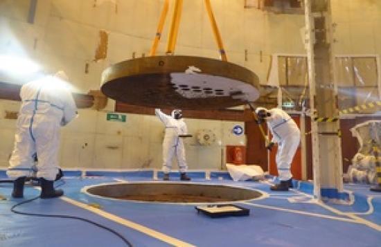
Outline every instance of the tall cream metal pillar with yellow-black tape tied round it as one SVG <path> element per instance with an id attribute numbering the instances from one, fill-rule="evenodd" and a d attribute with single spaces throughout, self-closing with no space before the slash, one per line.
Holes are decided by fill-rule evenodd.
<path id="1" fill-rule="evenodd" d="M 339 116 L 332 28 L 330 0 L 305 0 L 310 109 L 319 117 Z M 312 117 L 311 128 L 314 196 L 321 200 L 326 197 L 324 191 L 343 191 L 342 149 L 335 134 L 339 121 L 315 122 Z"/>

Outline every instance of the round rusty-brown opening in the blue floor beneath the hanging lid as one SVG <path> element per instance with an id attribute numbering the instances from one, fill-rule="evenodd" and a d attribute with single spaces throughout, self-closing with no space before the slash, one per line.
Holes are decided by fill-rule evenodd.
<path id="1" fill-rule="evenodd" d="M 218 203 L 256 199 L 263 194 L 256 190 L 228 185 L 202 183 L 110 183 L 94 185 L 89 194 L 113 199 L 163 203 Z"/>

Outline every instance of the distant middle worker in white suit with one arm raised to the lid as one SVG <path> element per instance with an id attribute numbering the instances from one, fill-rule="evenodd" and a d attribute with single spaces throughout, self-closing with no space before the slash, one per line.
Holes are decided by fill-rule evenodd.
<path id="1" fill-rule="evenodd" d="M 154 113 L 166 126 L 166 134 L 163 140 L 163 180 L 169 180 L 172 158 L 175 154 L 181 174 L 180 179 L 189 181 L 190 178 L 186 176 L 188 166 L 186 165 L 184 143 L 181 138 L 181 135 L 184 136 L 188 132 L 188 129 L 186 123 L 182 120 L 181 110 L 173 110 L 171 116 L 166 115 L 160 109 L 155 109 Z"/>

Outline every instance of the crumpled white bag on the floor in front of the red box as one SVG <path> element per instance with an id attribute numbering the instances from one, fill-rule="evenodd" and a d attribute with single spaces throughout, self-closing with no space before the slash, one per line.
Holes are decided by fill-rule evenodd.
<path id="1" fill-rule="evenodd" d="M 233 165 L 227 164 L 227 171 L 229 172 L 233 181 L 245 181 L 247 179 L 263 179 L 264 172 L 259 165 Z"/>

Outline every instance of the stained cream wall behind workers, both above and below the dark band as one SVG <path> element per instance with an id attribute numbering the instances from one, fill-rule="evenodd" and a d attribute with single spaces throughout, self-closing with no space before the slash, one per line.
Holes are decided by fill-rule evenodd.
<path id="1" fill-rule="evenodd" d="M 337 53 L 380 54 L 381 1 L 332 2 Z M 133 53 L 139 57 L 150 52 L 163 1 L 38 0 L 34 24 L 27 22 L 29 3 L 29 0 L 0 1 L 0 54 L 29 57 L 50 73 L 63 69 L 75 90 L 87 93 L 89 89 L 99 89 L 100 74 L 110 64 L 130 59 Z M 266 80 L 270 55 L 305 53 L 300 35 L 303 16 L 245 9 L 242 0 L 211 3 L 229 61 L 256 72 L 261 83 Z M 171 13 L 158 54 L 166 50 Z M 98 32 L 103 29 L 109 32 L 107 59 L 93 62 Z M 184 1 L 175 53 L 218 58 L 204 1 Z M 87 73 L 85 64 L 89 64 Z M 0 80 L 22 83 L 26 78 L 0 73 Z M 18 107 L 17 102 L 0 101 L 0 166 L 7 165 L 15 132 L 15 120 L 4 119 L 4 111 L 17 111 Z M 112 110 L 112 104 L 107 110 Z M 127 114 L 125 123 L 107 122 L 105 115 L 105 111 L 81 110 L 80 117 L 62 129 L 60 161 L 64 167 L 161 166 L 163 127 L 159 120 L 154 116 Z M 231 134 L 233 125 L 242 122 L 192 119 L 186 122 L 190 133 L 212 129 L 217 136 L 210 147 L 197 145 L 195 138 L 186 141 L 190 169 L 218 169 L 224 145 L 245 143 L 245 136 Z"/>

